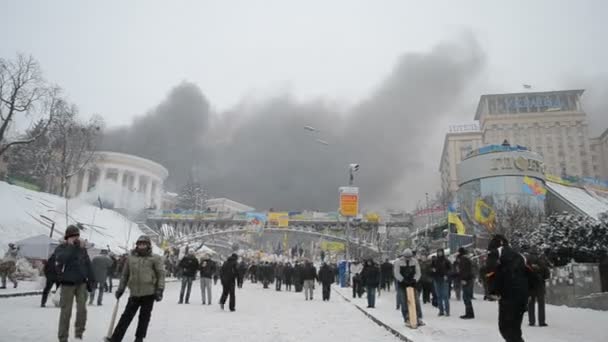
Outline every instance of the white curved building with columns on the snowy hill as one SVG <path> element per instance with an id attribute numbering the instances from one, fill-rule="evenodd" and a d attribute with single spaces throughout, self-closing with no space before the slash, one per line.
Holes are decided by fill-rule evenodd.
<path id="1" fill-rule="evenodd" d="M 114 208 L 161 209 L 167 169 L 151 160 L 117 152 L 96 152 L 91 166 L 70 180 L 69 197 L 94 192 Z"/>

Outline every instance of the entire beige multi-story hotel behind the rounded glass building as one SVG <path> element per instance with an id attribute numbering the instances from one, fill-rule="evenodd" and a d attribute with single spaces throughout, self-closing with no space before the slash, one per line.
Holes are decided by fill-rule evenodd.
<path id="1" fill-rule="evenodd" d="M 590 139 L 583 92 L 482 95 L 475 114 L 479 128 L 456 126 L 445 137 L 439 167 L 442 190 L 453 194 L 458 189 L 456 166 L 468 151 L 505 140 L 539 153 L 547 174 L 608 179 L 608 131 Z"/>

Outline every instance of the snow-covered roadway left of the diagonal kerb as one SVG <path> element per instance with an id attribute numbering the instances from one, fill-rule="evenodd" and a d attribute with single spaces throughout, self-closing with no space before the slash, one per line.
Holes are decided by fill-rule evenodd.
<path id="1" fill-rule="evenodd" d="M 195 285 L 191 304 L 178 305 L 179 284 L 167 284 L 165 298 L 155 303 L 146 342 L 399 341 L 336 294 L 330 302 L 323 302 L 319 286 L 314 300 L 307 302 L 303 293 L 264 290 L 261 284 L 246 282 L 243 289 L 236 291 L 236 312 L 229 312 L 217 304 L 219 284 L 213 289 L 214 304 L 210 306 L 201 305 L 198 282 Z M 115 299 L 108 295 L 104 301 L 101 307 L 88 307 L 85 342 L 99 342 L 105 336 Z M 124 302 L 121 300 L 121 304 Z M 59 309 L 42 309 L 39 303 L 40 296 L 0 299 L 0 340 L 56 341 Z M 122 309 L 121 306 L 121 312 Z M 137 317 L 124 341 L 134 339 L 136 320 Z M 73 335 L 73 330 L 70 333 Z"/>

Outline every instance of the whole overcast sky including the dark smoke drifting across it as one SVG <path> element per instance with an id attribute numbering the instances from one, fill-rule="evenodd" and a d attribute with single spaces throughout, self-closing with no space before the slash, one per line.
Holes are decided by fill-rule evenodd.
<path id="1" fill-rule="evenodd" d="M 101 114 L 110 127 L 149 113 L 110 136 L 116 150 L 168 164 L 171 190 L 196 167 L 216 195 L 258 208 L 325 209 L 343 166 L 366 161 L 362 170 L 385 168 L 362 171 L 369 205 L 411 208 L 438 190 L 443 134 L 473 120 L 481 94 L 522 91 L 523 83 L 583 87 L 593 134 L 608 128 L 606 13 L 601 0 L 6 1 L 0 56 L 34 55 L 82 114 Z M 171 91 L 183 81 L 200 90 Z M 149 145 L 172 125 L 171 113 L 182 131 Z M 324 127 L 339 144 L 323 160 L 306 140 L 278 146 L 308 122 L 337 126 Z M 174 160 L 181 150 L 171 137 L 185 131 L 180 146 L 205 146 Z M 352 132 L 364 138 L 349 143 Z M 117 139 L 126 134 L 131 141 Z M 285 149 L 277 160 L 250 161 L 254 175 L 241 170 L 247 155 L 277 146 Z M 270 189 L 277 179 L 280 194 Z M 294 199 L 314 184 L 330 190 Z"/>

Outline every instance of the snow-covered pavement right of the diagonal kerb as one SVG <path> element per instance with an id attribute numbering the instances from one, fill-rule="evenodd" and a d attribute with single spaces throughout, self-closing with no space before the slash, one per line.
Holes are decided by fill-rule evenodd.
<path id="1" fill-rule="evenodd" d="M 455 299 L 450 301 L 450 317 L 438 317 L 438 310 L 431 304 L 422 305 L 423 321 L 426 326 L 416 330 L 405 327 L 401 311 L 395 309 L 395 292 L 383 292 L 376 299 L 376 308 L 367 309 L 365 294 L 361 299 L 352 299 L 350 288 L 334 287 L 354 305 L 399 331 L 414 342 L 486 342 L 502 341 L 498 332 L 498 304 L 474 300 L 475 319 L 462 320 L 464 304 Z M 479 298 L 480 295 L 477 295 Z M 547 305 L 549 327 L 530 327 L 524 315 L 522 324 L 524 340 L 546 342 L 606 341 L 604 325 L 608 322 L 608 312 L 589 309 L 575 309 L 565 306 Z"/>

